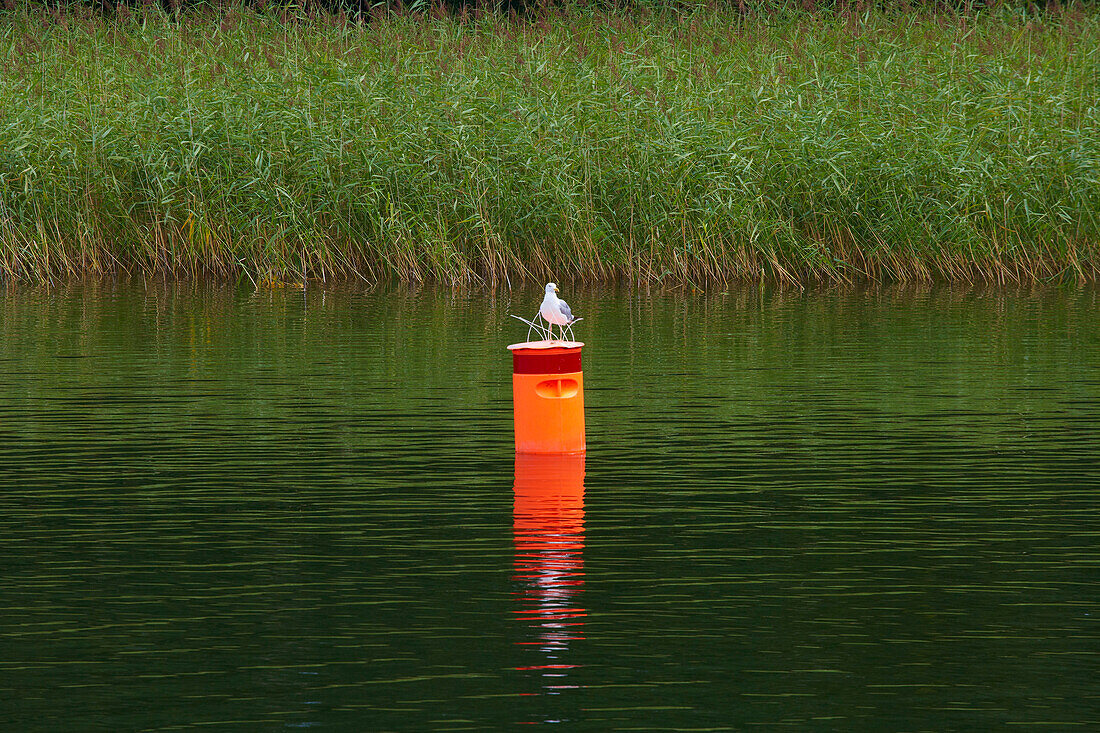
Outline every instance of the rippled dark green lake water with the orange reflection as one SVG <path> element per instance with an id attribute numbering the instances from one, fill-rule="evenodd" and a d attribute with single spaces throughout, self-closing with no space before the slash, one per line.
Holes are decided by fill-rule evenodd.
<path id="1" fill-rule="evenodd" d="M 0 723 L 1100 725 L 1100 293 L 0 287 Z"/>

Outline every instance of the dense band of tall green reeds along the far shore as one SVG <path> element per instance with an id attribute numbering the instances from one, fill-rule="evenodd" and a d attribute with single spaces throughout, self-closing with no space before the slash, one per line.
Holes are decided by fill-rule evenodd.
<path id="1" fill-rule="evenodd" d="M 1100 280 L 1100 11 L 0 12 L 0 280 Z"/>

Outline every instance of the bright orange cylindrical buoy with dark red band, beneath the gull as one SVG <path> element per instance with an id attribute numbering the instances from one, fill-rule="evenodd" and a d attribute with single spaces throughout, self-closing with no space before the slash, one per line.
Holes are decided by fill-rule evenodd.
<path id="1" fill-rule="evenodd" d="M 517 453 L 583 453 L 584 376 L 580 341 L 513 343 Z"/>

